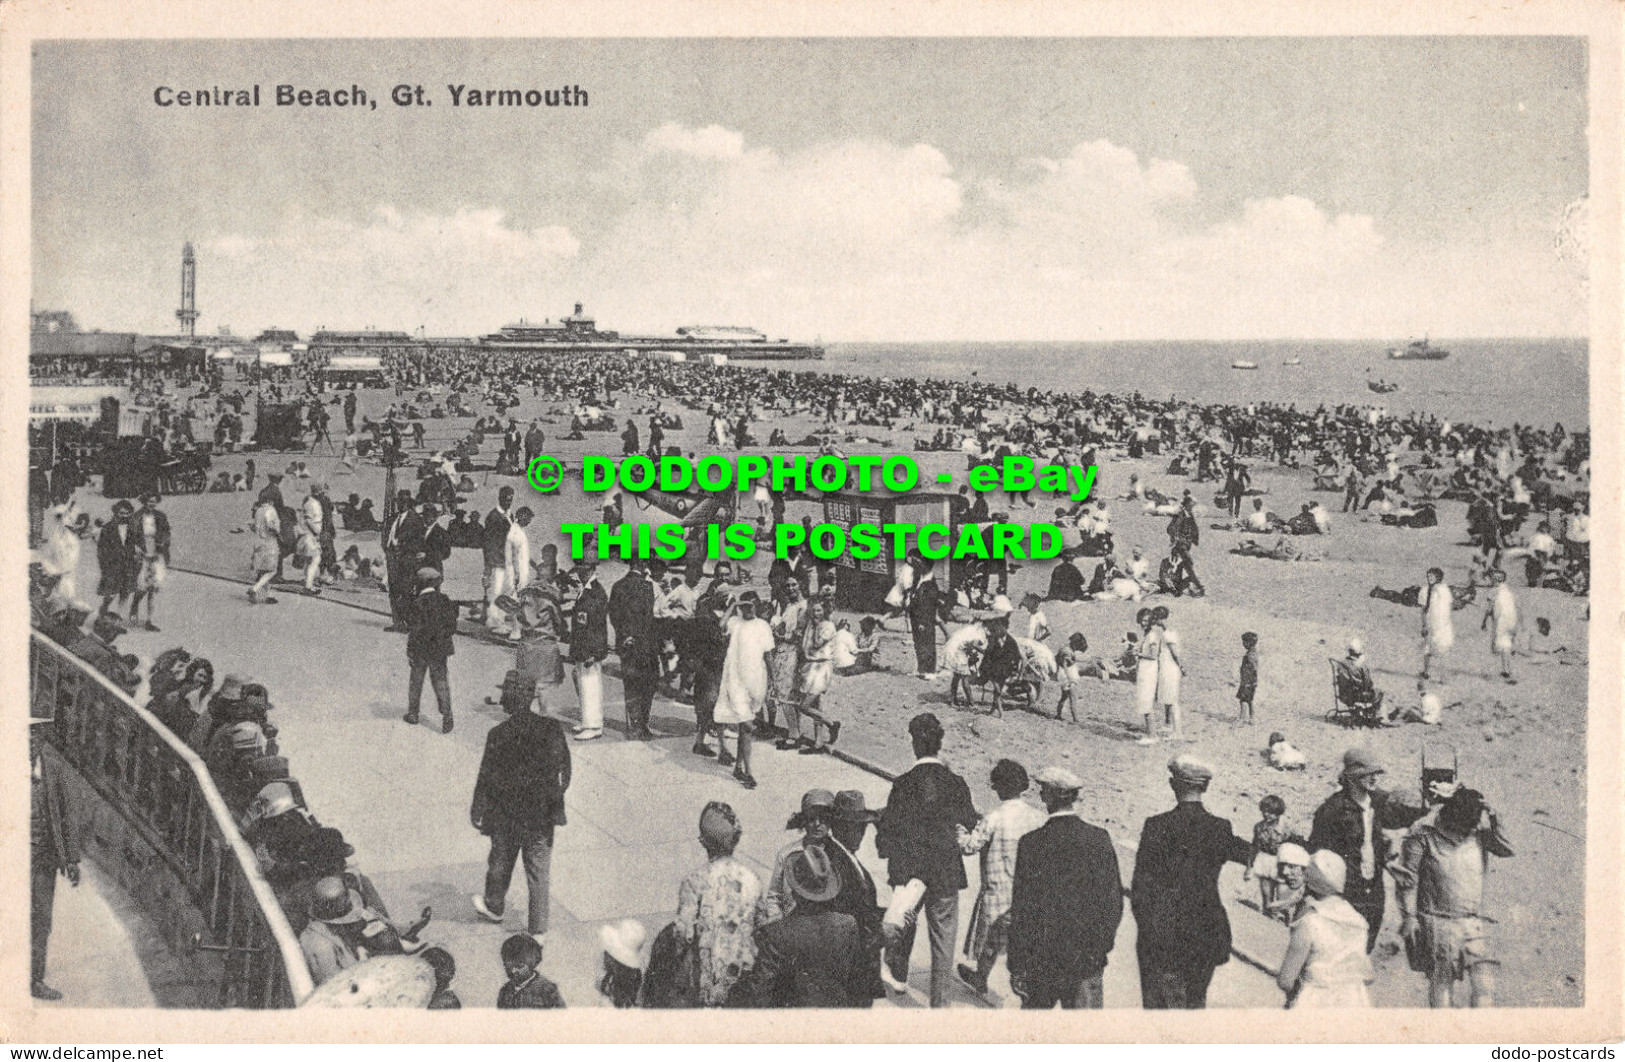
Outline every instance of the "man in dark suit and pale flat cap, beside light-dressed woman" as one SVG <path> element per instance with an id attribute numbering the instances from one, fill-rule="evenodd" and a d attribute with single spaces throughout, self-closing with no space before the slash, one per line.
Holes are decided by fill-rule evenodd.
<path id="1" fill-rule="evenodd" d="M 1123 921 L 1116 849 L 1100 827 L 1077 817 L 1077 775 L 1038 771 L 1050 822 L 1016 846 L 1009 968 L 1025 1010 L 1098 1010 L 1107 955 Z"/>

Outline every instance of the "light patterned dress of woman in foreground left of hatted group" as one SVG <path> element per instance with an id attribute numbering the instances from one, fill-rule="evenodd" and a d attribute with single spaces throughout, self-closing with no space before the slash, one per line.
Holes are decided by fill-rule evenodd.
<path id="1" fill-rule="evenodd" d="M 762 880 L 733 856 L 723 856 L 678 887 L 678 937 L 699 945 L 700 1002 L 722 1007 L 733 986 L 756 965 Z"/>

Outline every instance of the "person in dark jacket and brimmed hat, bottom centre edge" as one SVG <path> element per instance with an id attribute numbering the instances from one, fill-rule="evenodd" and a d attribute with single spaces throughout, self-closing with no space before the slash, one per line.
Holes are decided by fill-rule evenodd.
<path id="1" fill-rule="evenodd" d="M 856 1007 L 864 992 L 858 919 L 835 911 L 840 872 L 809 844 L 791 857 L 790 914 L 756 930 L 760 1007 Z"/>

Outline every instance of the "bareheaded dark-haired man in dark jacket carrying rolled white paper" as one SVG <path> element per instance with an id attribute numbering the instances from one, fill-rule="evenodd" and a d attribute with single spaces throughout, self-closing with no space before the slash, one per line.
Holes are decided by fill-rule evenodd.
<path id="1" fill-rule="evenodd" d="M 970 786 L 947 770 L 936 753 L 942 750 L 942 724 L 930 711 L 908 721 L 915 765 L 892 783 L 890 799 L 874 830 L 874 848 L 886 859 L 886 880 L 892 888 L 920 882 L 925 896 L 907 911 L 904 924 L 886 926 L 886 969 L 892 991 L 907 989 L 908 955 L 925 909 L 931 934 L 931 1005 L 947 1007 L 954 978 L 954 942 L 959 935 L 959 891 L 968 885 L 959 831 L 977 825 Z"/>

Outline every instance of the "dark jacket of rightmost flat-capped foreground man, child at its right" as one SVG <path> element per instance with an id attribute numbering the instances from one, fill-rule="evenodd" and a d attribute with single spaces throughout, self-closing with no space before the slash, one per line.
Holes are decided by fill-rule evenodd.
<path id="1" fill-rule="evenodd" d="M 1228 961 L 1230 917 L 1219 900 L 1219 872 L 1251 857 L 1253 846 L 1230 831 L 1230 822 L 1199 802 L 1147 818 L 1131 890 L 1141 966 Z"/>

